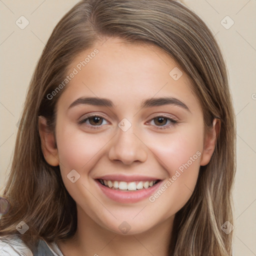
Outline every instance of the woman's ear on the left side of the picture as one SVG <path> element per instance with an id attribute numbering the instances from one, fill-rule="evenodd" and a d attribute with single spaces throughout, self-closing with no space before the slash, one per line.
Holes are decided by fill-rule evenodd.
<path id="1" fill-rule="evenodd" d="M 57 166 L 59 158 L 54 133 L 49 130 L 46 118 L 41 115 L 38 116 L 38 129 L 45 161 L 52 166 Z"/>

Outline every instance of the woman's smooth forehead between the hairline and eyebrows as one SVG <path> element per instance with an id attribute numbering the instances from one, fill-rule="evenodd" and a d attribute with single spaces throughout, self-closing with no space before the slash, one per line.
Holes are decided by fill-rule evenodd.
<path id="1" fill-rule="evenodd" d="M 107 97 L 116 106 L 129 102 L 137 107 L 142 99 L 154 96 L 196 101 L 188 76 L 156 45 L 119 38 L 97 41 L 74 58 L 67 75 L 73 70 L 60 97 L 65 102 L 81 96 Z"/>

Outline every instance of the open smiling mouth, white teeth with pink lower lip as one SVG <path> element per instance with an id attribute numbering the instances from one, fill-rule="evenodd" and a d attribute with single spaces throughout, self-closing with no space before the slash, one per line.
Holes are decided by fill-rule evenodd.
<path id="1" fill-rule="evenodd" d="M 96 178 L 95 181 L 104 195 L 119 203 L 135 203 L 147 199 L 163 182 L 162 179 L 142 178 L 143 180 L 140 180 L 137 177 L 134 177 L 133 181 L 131 178 L 126 181 L 118 179 L 105 177 Z"/>

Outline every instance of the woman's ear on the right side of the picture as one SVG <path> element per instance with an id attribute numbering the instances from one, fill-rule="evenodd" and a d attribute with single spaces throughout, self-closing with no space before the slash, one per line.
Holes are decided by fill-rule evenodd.
<path id="1" fill-rule="evenodd" d="M 217 137 L 219 135 L 219 131 L 220 119 L 214 118 L 212 121 L 212 126 L 209 130 L 206 131 L 206 134 L 204 135 L 200 165 L 206 165 L 210 161 L 211 155 L 215 148 Z"/>

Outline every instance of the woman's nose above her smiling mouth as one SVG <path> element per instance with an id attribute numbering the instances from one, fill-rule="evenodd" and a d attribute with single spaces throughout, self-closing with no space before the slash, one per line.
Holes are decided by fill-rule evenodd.
<path id="1" fill-rule="evenodd" d="M 133 131 L 133 126 L 126 131 L 117 128 L 117 134 L 108 152 L 110 160 L 118 160 L 128 165 L 134 161 L 144 162 L 147 159 L 147 147 Z"/>

